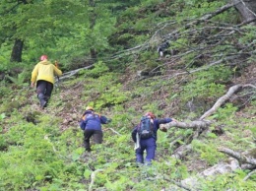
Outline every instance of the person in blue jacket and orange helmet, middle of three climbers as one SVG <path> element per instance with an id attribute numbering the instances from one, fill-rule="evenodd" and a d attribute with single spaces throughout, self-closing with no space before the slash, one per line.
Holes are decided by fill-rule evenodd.
<path id="1" fill-rule="evenodd" d="M 94 136 L 96 144 L 102 143 L 103 133 L 101 124 L 107 124 L 111 122 L 111 119 L 106 118 L 95 112 L 92 106 L 87 106 L 82 120 L 80 121 L 80 127 L 84 130 L 84 144 L 86 151 L 91 152 L 90 139 Z"/>

